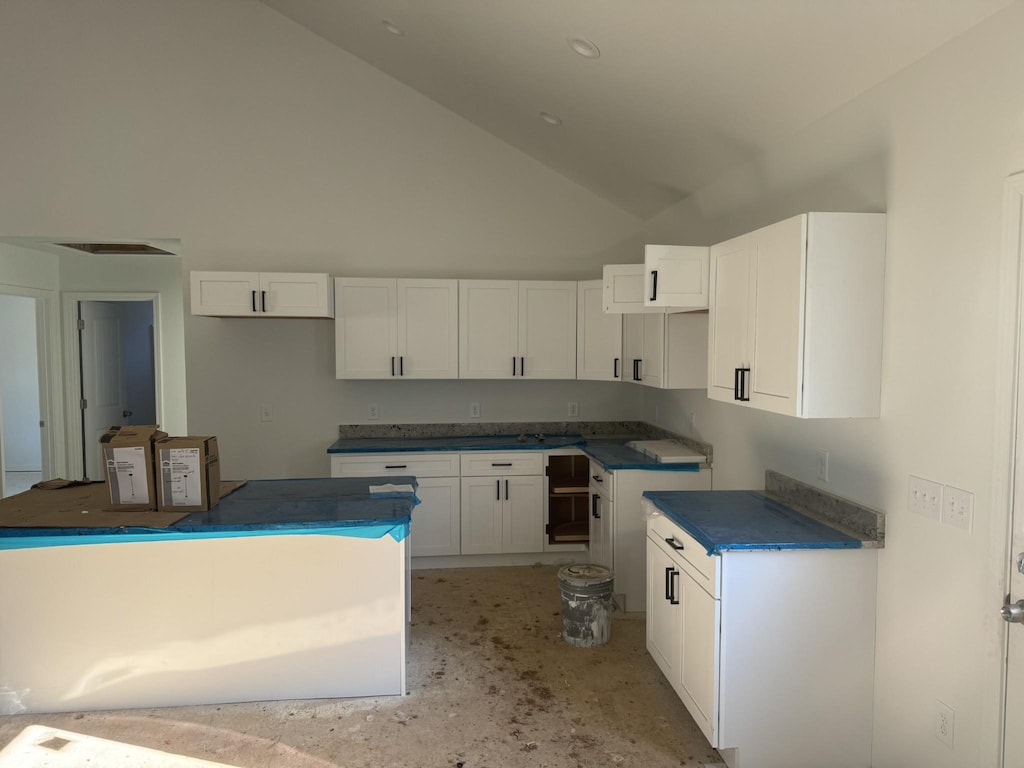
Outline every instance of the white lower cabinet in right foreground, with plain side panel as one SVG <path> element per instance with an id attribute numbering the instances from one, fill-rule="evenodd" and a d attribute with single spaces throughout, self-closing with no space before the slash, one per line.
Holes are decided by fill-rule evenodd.
<path id="1" fill-rule="evenodd" d="M 870 765 L 878 550 L 646 546 L 647 650 L 727 765 Z"/>

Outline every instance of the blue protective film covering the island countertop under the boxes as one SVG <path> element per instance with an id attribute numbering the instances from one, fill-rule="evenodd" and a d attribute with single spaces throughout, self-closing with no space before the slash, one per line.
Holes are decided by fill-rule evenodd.
<path id="1" fill-rule="evenodd" d="M 371 485 L 408 484 L 414 493 L 371 495 Z M 171 541 L 273 534 L 327 534 L 362 539 L 409 535 L 419 504 L 415 477 L 317 477 L 250 480 L 207 512 L 193 512 L 166 528 L 0 528 L 0 549 Z"/>

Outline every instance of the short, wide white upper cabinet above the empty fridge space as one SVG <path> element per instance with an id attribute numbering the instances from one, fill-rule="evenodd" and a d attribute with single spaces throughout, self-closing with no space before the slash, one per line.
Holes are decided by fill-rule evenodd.
<path id="1" fill-rule="evenodd" d="M 333 317 L 334 293 L 317 272 L 189 272 L 191 313 L 221 317 Z"/>

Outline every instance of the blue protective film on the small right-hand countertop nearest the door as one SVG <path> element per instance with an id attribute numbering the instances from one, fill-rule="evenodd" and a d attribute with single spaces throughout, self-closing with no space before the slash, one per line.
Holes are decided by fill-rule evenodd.
<path id="1" fill-rule="evenodd" d="M 840 532 L 756 490 L 647 490 L 658 510 L 709 555 L 730 550 L 857 549 Z"/>

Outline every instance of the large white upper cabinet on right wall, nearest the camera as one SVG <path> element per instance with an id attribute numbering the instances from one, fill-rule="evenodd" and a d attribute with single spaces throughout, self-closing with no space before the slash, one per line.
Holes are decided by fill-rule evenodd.
<path id="1" fill-rule="evenodd" d="M 711 249 L 708 395 L 878 417 L 886 218 L 808 213 Z"/>

